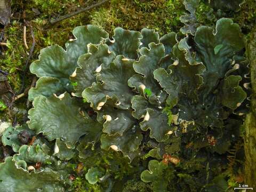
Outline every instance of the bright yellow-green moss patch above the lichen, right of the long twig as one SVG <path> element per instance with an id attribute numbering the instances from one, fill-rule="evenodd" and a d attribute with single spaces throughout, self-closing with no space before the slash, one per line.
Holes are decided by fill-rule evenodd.
<path id="1" fill-rule="evenodd" d="M 115 27 L 141 30 L 153 28 L 160 34 L 179 30 L 179 17 L 183 13 L 182 1 L 111 1 L 111 4 L 95 11 L 90 23 L 99 25 L 113 34 Z"/>

